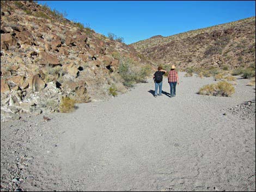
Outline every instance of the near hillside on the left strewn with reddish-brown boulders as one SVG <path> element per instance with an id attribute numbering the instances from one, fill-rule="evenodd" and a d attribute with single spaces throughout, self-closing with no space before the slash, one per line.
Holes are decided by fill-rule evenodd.
<path id="1" fill-rule="evenodd" d="M 109 88 L 125 92 L 119 65 L 144 69 L 139 56 L 47 5 L 1 1 L 1 121 L 56 112 L 63 97 L 89 102 L 109 97 Z"/>

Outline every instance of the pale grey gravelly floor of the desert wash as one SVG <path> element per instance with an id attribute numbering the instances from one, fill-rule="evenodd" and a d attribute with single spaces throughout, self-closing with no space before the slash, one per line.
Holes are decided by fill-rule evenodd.
<path id="1" fill-rule="evenodd" d="M 196 94 L 212 77 L 180 81 L 173 98 L 150 79 L 47 122 L 1 122 L 1 191 L 254 191 L 255 87 L 238 78 L 215 97 Z"/>

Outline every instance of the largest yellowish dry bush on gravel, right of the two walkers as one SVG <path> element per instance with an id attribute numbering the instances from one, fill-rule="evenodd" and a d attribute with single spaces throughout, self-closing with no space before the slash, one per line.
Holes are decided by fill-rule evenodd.
<path id="1" fill-rule="evenodd" d="M 218 82 L 217 84 L 209 84 L 200 88 L 198 94 L 229 97 L 234 94 L 235 88 L 231 83 Z"/>

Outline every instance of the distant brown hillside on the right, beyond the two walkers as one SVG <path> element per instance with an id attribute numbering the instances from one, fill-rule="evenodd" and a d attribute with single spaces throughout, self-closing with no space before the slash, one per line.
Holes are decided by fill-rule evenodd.
<path id="1" fill-rule="evenodd" d="M 255 66 L 255 17 L 132 44 L 158 64 L 223 67 Z"/>

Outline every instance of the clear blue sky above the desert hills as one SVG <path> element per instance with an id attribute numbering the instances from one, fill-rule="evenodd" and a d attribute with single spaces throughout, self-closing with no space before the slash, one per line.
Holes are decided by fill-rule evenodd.
<path id="1" fill-rule="evenodd" d="M 38 1 L 126 44 L 255 16 L 255 1 Z"/>

